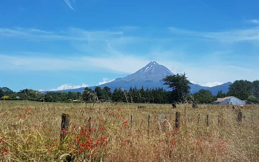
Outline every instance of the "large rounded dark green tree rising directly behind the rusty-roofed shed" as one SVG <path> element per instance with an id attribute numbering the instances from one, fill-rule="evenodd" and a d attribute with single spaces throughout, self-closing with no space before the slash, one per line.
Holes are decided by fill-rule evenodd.
<path id="1" fill-rule="evenodd" d="M 240 100 L 246 100 L 251 95 L 253 84 L 247 80 L 236 80 L 228 87 L 228 96 L 234 96 Z"/>

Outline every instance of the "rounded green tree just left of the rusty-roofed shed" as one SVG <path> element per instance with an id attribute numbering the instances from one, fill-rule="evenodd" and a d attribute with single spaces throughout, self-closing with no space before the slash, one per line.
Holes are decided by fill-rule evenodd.
<path id="1" fill-rule="evenodd" d="M 199 103 L 211 103 L 215 100 L 215 97 L 212 95 L 211 91 L 205 89 L 200 89 L 194 94 L 194 97 Z"/>

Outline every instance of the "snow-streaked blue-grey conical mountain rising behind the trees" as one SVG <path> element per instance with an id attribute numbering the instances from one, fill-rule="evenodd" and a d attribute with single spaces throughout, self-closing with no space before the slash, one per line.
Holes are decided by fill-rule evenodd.
<path id="1" fill-rule="evenodd" d="M 101 88 L 107 86 L 111 88 L 113 91 L 116 87 L 123 88 L 126 90 L 129 90 L 130 87 L 141 88 L 142 86 L 144 88 L 164 88 L 166 91 L 170 91 L 171 88 L 167 88 L 166 85 L 163 84 L 162 78 L 166 77 L 167 75 L 174 75 L 168 68 L 166 68 L 163 65 L 159 65 L 155 61 L 149 62 L 145 67 L 141 68 L 140 70 L 136 71 L 133 74 L 130 74 L 123 78 L 117 78 L 112 82 L 105 83 L 102 85 L 96 85 Z M 232 84 L 231 82 L 224 83 L 222 85 L 217 85 L 214 87 L 204 87 L 198 84 L 190 84 L 191 89 L 190 92 L 193 94 L 195 92 L 198 92 L 200 89 L 207 89 L 212 92 L 213 95 L 216 95 L 218 91 L 222 90 L 223 92 L 228 92 L 228 85 Z M 94 90 L 96 86 L 91 86 L 88 88 L 91 88 Z M 84 91 L 84 87 L 77 88 L 77 89 L 67 89 L 67 90 L 60 90 L 61 92 L 82 92 Z M 55 91 L 55 92 L 60 92 Z"/>

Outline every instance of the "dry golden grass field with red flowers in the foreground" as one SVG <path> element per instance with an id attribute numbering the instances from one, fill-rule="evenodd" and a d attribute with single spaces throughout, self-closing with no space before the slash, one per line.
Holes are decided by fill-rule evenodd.
<path id="1" fill-rule="evenodd" d="M 147 108 L 137 109 L 140 105 Z M 1 101 L 0 106 L 0 161 L 259 161 L 259 106 L 244 106 L 242 123 L 231 106 L 219 105 L 193 110 L 188 104 L 172 109 L 168 104 Z M 69 114 L 70 127 L 61 141 L 62 113 Z"/>

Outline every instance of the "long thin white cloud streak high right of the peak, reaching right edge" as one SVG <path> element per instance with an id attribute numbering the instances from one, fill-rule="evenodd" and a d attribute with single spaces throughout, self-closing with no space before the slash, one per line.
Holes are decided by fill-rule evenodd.
<path id="1" fill-rule="evenodd" d="M 198 32 L 168 27 L 172 34 L 185 36 L 198 36 L 201 38 L 214 39 L 221 42 L 259 41 L 259 28 L 235 29 L 222 32 Z"/>

